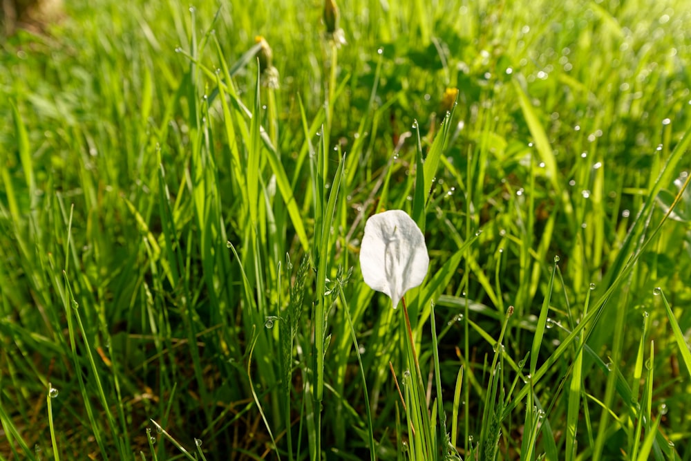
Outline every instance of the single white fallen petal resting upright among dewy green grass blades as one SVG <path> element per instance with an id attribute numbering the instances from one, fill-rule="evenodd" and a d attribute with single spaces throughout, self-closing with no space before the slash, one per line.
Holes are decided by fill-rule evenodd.
<path id="1" fill-rule="evenodd" d="M 405 211 L 392 209 L 367 220 L 360 246 L 362 277 L 372 290 L 388 294 L 394 308 L 422 283 L 429 262 L 425 238 Z"/>

